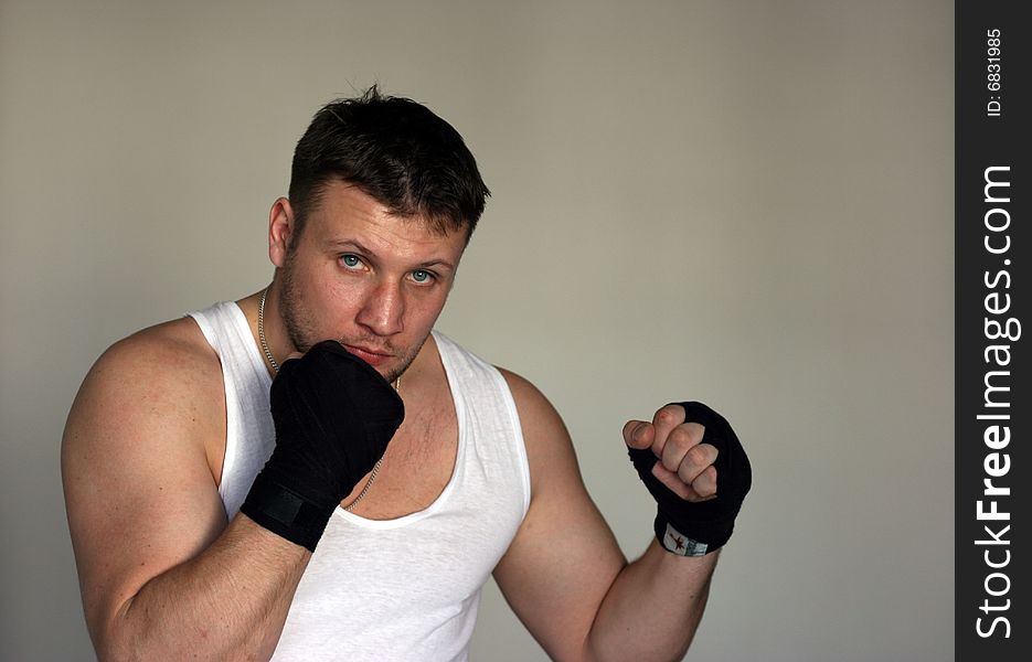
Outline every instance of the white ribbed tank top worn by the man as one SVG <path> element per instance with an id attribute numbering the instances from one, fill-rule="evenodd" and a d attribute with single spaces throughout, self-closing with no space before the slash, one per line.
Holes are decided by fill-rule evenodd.
<path id="1" fill-rule="evenodd" d="M 233 302 L 191 312 L 222 361 L 232 519 L 275 445 L 272 378 Z M 480 588 L 530 504 L 515 404 L 493 366 L 434 332 L 455 403 L 451 479 L 426 510 L 365 520 L 338 508 L 297 588 L 274 660 L 467 660 Z"/>

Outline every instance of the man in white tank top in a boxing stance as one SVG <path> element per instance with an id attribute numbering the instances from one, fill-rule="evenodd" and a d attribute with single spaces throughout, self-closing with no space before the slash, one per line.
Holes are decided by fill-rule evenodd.
<path id="1" fill-rule="evenodd" d="M 432 331 L 487 195 L 425 107 L 330 104 L 272 285 L 97 361 L 62 469 L 102 659 L 465 660 L 491 573 L 556 660 L 684 653 L 748 461 L 698 403 L 629 421 L 659 508 L 627 563 L 549 402 Z"/>

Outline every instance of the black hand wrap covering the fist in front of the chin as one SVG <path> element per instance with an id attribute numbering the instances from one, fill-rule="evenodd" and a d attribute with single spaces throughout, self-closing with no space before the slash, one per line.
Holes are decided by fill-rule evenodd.
<path id="1" fill-rule="evenodd" d="M 405 418 L 394 388 L 332 340 L 284 362 L 269 392 L 276 448 L 241 512 L 315 552 L 330 516 Z"/>

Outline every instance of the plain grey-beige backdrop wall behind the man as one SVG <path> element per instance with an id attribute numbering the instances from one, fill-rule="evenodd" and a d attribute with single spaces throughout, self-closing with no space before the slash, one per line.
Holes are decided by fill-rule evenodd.
<path id="1" fill-rule="evenodd" d="M 0 0 L 0 659 L 93 658 L 57 461 L 83 375 L 268 281 L 294 143 L 373 82 L 458 127 L 494 193 L 439 328 L 549 395 L 628 555 L 653 506 L 624 420 L 699 398 L 736 426 L 755 487 L 689 659 L 951 659 L 953 22 Z M 545 659 L 493 587 L 472 652 Z"/>

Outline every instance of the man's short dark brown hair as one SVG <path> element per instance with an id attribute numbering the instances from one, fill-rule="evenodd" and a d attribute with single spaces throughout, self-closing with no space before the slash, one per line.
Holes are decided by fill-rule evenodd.
<path id="1" fill-rule="evenodd" d="M 380 93 L 330 102 L 294 151 L 290 204 L 296 231 L 329 182 L 357 185 L 401 216 L 424 216 L 440 233 L 472 234 L 491 194 L 451 125 L 412 99 Z"/>

